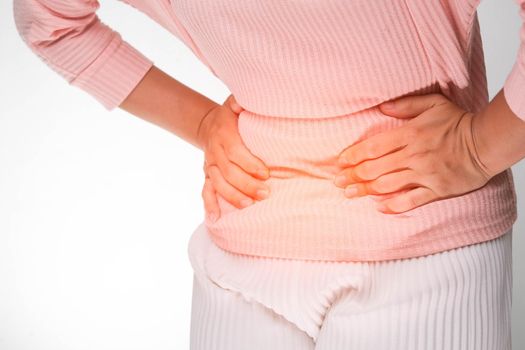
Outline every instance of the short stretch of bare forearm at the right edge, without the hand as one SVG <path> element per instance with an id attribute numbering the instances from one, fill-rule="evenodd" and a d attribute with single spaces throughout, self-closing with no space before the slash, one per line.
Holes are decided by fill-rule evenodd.
<path id="1" fill-rule="evenodd" d="M 509 108 L 501 89 L 473 118 L 480 160 L 496 175 L 525 158 L 525 121 Z"/>

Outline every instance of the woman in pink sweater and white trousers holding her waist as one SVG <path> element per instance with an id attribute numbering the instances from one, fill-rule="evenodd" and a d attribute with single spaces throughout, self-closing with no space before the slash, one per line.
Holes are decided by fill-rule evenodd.
<path id="1" fill-rule="evenodd" d="M 72 85 L 204 151 L 192 349 L 510 349 L 525 51 L 489 103 L 479 1 L 126 2 L 232 95 L 166 75 L 97 1 L 14 13 Z"/>

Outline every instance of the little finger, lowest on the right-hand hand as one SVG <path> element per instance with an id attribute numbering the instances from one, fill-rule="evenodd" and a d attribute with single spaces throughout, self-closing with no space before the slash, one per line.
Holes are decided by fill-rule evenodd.
<path id="1" fill-rule="evenodd" d="M 402 213 L 437 199 L 435 193 L 427 187 L 416 187 L 398 196 L 376 203 L 376 208 L 383 213 Z"/>

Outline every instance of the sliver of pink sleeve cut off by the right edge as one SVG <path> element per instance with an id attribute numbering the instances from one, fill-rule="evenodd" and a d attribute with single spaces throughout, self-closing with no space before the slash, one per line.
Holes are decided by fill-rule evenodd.
<path id="1" fill-rule="evenodd" d="M 520 119 L 525 121 L 525 0 L 514 0 L 519 6 L 522 20 L 520 28 L 520 47 L 517 59 L 505 80 L 503 93 L 507 104 Z"/>

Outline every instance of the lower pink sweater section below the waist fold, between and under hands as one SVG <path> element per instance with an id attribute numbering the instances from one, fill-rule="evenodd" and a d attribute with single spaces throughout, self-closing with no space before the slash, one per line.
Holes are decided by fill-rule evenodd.
<path id="1" fill-rule="evenodd" d="M 239 209 L 218 195 L 221 216 L 205 221 L 212 239 L 227 251 L 248 255 L 373 261 L 428 255 L 508 230 L 517 218 L 510 168 L 475 191 L 405 213 L 377 211 L 381 196 L 344 196 L 333 184 L 338 154 L 406 121 L 378 108 L 318 119 L 241 113 L 243 142 L 270 169 L 270 196 Z"/>

